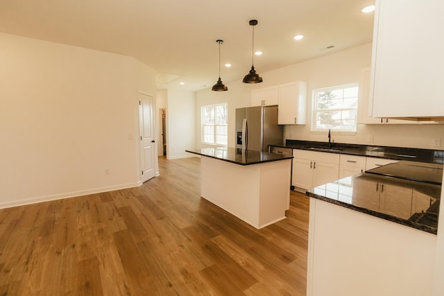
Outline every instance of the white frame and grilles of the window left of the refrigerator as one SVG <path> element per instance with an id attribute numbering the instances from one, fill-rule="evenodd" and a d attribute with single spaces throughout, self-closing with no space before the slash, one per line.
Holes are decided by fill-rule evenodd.
<path id="1" fill-rule="evenodd" d="M 216 107 L 217 106 L 223 106 L 225 107 L 225 123 L 220 124 L 216 123 Z M 204 108 L 212 107 L 214 110 L 214 118 L 212 118 L 213 123 L 212 124 L 206 124 L 205 123 L 205 114 L 203 112 Z M 212 142 L 205 141 L 205 127 L 212 127 L 212 135 L 213 139 Z M 220 133 L 219 130 L 221 127 L 225 127 L 225 133 Z M 226 141 L 225 143 L 217 143 L 218 137 L 225 137 Z M 211 104 L 211 105 L 202 105 L 200 106 L 200 143 L 205 145 L 212 145 L 212 146 L 228 146 L 228 103 L 217 103 L 217 104 Z"/>

